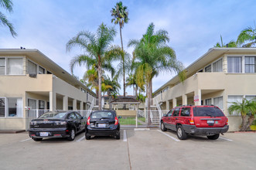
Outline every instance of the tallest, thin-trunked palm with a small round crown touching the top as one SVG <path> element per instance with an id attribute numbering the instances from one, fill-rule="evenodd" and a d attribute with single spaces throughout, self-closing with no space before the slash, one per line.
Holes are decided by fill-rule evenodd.
<path id="1" fill-rule="evenodd" d="M 113 16 L 113 19 L 111 19 L 111 22 L 114 22 L 114 24 L 119 25 L 120 29 L 120 38 L 121 38 L 121 50 L 124 52 L 124 46 L 123 46 L 123 39 L 121 36 L 121 29 L 124 27 L 125 23 L 128 23 L 128 8 L 127 6 L 123 6 L 122 2 L 117 2 L 114 8 L 111 10 L 111 16 Z M 121 55 L 121 66 L 123 70 L 123 85 L 124 85 L 124 97 L 125 97 L 125 53 L 122 53 Z"/>

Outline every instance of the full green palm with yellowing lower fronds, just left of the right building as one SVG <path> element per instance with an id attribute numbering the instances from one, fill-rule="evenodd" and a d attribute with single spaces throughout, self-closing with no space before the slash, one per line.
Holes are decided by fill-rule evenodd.
<path id="1" fill-rule="evenodd" d="M 168 32 L 159 30 L 155 32 L 155 26 L 151 23 L 142 39 L 131 39 L 128 46 L 134 46 L 134 64 L 136 68 L 136 82 L 138 86 L 146 83 L 148 96 L 148 124 L 150 121 L 150 106 L 152 99 L 152 79 L 163 71 L 179 73 L 182 80 L 185 79 L 183 64 L 176 59 L 174 50 L 169 47 Z"/>

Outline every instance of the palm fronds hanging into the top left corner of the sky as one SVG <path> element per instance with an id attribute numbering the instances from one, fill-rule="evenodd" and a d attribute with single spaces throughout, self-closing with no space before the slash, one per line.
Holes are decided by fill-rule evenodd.
<path id="1" fill-rule="evenodd" d="M 5 8 L 7 11 L 12 12 L 12 0 L 0 0 L 0 5 L 2 8 Z M 6 16 L 0 12 L 0 24 L 2 26 L 8 26 L 9 30 L 13 37 L 17 36 L 17 33 L 15 32 L 12 23 L 9 22 L 9 20 L 6 18 Z"/>

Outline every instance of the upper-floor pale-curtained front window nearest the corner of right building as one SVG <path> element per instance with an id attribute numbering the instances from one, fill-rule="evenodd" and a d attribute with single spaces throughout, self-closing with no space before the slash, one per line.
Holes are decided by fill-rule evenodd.
<path id="1" fill-rule="evenodd" d="M 227 57 L 227 73 L 242 73 L 242 57 L 241 56 Z"/>

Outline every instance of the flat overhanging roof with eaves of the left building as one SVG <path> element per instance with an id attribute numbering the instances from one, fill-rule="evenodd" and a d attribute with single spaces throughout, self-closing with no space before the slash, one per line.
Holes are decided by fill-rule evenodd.
<path id="1" fill-rule="evenodd" d="M 52 59 L 49 59 L 46 55 L 40 52 L 38 49 L 0 49 L 0 56 L 28 56 L 29 59 L 38 63 L 40 66 L 46 68 L 52 72 L 55 76 L 60 77 L 60 79 L 70 83 L 71 85 L 80 86 L 90 92 L 90 94 L 96 96 L 96 94 L 91 91 L 84 83 L 81 83 L 74 76 L 64 70 L 61 66 L 53 62 Z"/>

